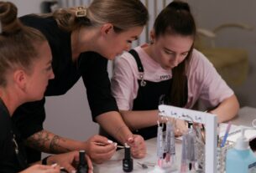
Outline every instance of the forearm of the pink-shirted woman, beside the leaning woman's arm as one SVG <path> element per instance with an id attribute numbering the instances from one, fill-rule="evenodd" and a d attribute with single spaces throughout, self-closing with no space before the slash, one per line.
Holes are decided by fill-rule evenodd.
<path id="1" fill-rule="evenodd" d="M 120 110 L 120 113 L 126 125 L 132 130 L 157 125 L 157 120 L 159 120 L 158 110 Z"/>

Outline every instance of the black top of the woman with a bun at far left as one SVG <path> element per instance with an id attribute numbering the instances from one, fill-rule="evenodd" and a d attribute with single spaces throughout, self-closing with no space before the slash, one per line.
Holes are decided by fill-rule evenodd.
<path id="1" fill-rule="evenodd" d="M 18 147 L 15 145 L 13 138 Z M 18 149 L 18 155 L 15 149 Z M 24 147 L 20 136 L 13 125 L 8 109 L 0 99 L 0 172 L 16 173 L 26 167 L 26 157 L 24 156 Z"/>

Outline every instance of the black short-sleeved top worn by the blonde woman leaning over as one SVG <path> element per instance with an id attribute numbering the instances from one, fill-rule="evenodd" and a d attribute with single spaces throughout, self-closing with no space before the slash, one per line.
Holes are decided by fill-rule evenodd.
<path id="1" fill-rule="evenodd" d="M 20 19 L 25 25 L 38 29 L 50 43 L 55 79 L 50 79 L 45 96 L 65 94 L 82 77 L 93 120 L 99 114 L 118 111 L 116 101 L 111 94 L 107 59 L 98 53 L 85 52 L 80 54 L 77 62 L 73 62 L 71 58 L 71 33 L 58 28 L 54 18 L 27 15 Z M 13 120 L 23 138 L 28 138 L 30 135 L 43 130 L 44 102 L 45 99 L 42 99 L 23 104 L 13 114 Z"/>

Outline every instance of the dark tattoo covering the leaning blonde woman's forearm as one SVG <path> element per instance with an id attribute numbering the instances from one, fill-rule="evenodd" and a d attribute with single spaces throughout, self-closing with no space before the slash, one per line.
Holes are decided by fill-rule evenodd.
<path id="1" fill-rule="evenodd" d="M 52 154 L 70 151 L 68 148 L 61 146 L 60 141 L 65 142 L 60 136 L 42 130 L 25 140 L 25 144 L 35 150 L 50 152 Z"/>

